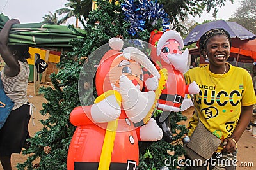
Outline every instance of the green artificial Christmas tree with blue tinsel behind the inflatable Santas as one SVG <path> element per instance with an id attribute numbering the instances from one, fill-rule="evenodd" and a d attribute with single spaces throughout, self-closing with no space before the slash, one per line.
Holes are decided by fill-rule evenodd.
<path id="1" fill-rule="evenodd" d="M 52 86 L 40 89 L 40 92 L 47 99 L 47 103 L 43 103 L 43 109 L 40 113 L 47 118 L 40 121 L 44 128 L 36 132 L 35 136 L 29 140 L 31 147 L 23 151 L 29 157 L 23 164 L 17 165 L 18 169 L 67 169 L 68 146 L 76 129 L 70 124 L 70 112 L 75 107 L 81 106 L 81 103 L 84 105 L 93 104 L 97 96 L 90 78 L 94 76 L 95 65 L 99 64 L 102 56 L 93 52 L 108 43 L 108 40 L 113 37 L 132 38 L 148 42 L 149 32 L 153 29 L 161 29 L 163 25 L 166 25 L 167 17 L 157 3 L 150 5 L 155 5 L 158 11 L 161 11 L 158 14 L 150 13 L 150 9 L 146 8 L 147 5 L 145 5 L 147 1 L 126 1 L 122 4 L 117 2 L 96 1 L 97 10 L 90 12 L 88 22 L 86 25 L 84 24 L 86 34 L 81 35 L 84 38 L 70 41 L 73 51 L 62 54 L 61 62 L 58 64 L 60 71 L 58 74 L 51 74 Z M 131 11 L 142 8 L 145 8 L 145 11 L 137 10 L 134 18 Z M 136 22 L 137 24 L 131 22 L 131 20 L 137 19 L 139 20 Z M 143 29 L 139 29 L 140 27 Z M 82 66 L 85 71 L 81 73 Z M 80 78 L 83 76 L 83 86 L 79 86 L 79 76 Z M 79 94 L 79 88 L 84 88 L 82 94 Z M 81 98 L 83 101 L 79 100 Z M 180 112 L 174 113 L 170 117 L 172 133 L 177 134 L 173 136 L 174 140 L 182 139 L 186 133 L 184 125 L 177 124 L 185 119 L 186 117 L 183 117 Z M 174 154 L 170 154 L 173 151 Z M 172 160 L 177 160 L 183 154 L 184 150 L 181 144 L 172 145 L 163 140 L 156 143 L 140 143 L 138 169 L 160 169 L 166 166 L 166 159 L 171 157 Z M 177 161 L 175 164 L 167 165 L 167 167 L 177 169 Z"/>

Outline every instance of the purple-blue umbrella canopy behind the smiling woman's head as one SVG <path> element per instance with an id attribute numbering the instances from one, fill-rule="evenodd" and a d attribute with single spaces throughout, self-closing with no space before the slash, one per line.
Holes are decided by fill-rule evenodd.
<path id="1" fill-rule="evenodd" d="M 196 43 L 205 32 L 216 28 L 225 29 L 230 34 L 231 38 L 239 38 L 240 40 L 256 38 L 255 34 L 248 31 L 236 22 L 216 20 L 197 25 L 184 39 L 184 45 L 191 45 L 192 43 Z"/>

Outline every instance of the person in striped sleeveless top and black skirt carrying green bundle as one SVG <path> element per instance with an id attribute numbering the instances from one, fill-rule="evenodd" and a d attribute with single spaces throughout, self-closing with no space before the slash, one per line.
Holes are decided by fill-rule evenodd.
<path id="1" fill-rule="evenodd" d="M 29 47 L 25 45 L 8 45 L 8 37 L 13 24 L 19 20 L 8 20 L 0 32 L 0 55 L 5 62 L 1 73 L 4 92 L 15 102 L 5 124 L 0 129 L 0 161 L 4 170 L 12 169 L 12 153 L 20 153 L 28 149 L 26 139 L 30 138 L 28 123 L 31 117 L 28 103 L 27 87 L 30 57 Z"/>

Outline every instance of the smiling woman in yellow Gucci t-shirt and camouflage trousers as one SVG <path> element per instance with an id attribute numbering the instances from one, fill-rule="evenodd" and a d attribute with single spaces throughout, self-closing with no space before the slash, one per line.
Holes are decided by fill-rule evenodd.
<path id="1" fill-rule="evenodd" d="M 221 152 L 221 160 L 229 160 L 227 163 L 230 163 L 215 162 L 215 166 L 209 164 L 209 169 L 236 169 L 231 161 L 236 159 L 237 142 L 252 118 L 253 104 L 256 103 L 248 71 L 227 62 L 230 48 L 230 35 L 224 29 L 205 32 L 199 40 L 199 50 L 204 58 L 209 59 L 209 64 L 189 69 L 184 75 L 187 83 L 196 81 L 200 88 L 199 94 L 194 95 L 199 118 L 193 113 L 188 136 L 193 134 L 200 120 L 208 131 L 221 139 L 221 146 L 216 152 Z M 218 160 L 216 153 L 212 154 L 212 158 Z M 207 166 L 187 169 L 207 169 Z"/>

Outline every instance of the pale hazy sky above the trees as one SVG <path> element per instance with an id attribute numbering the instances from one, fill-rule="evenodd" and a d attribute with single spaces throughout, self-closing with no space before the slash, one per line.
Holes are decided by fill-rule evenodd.
<path id="1" fill-rule="evenodd" d="M 228 20 L 234 11 L 240 6 L 239 0 L 234 0 L 231 4 L 229 0 L 218 12 L 218 19 Z M 42 17 L 49 11 L 63 8 L 67 0 L 1 0 L 0 13 L 4 13 L 9 18 L 17 18 L 21 23 L 42 22 Z M 228 12 L 227 12 L 228 11 Z M 202 23 L 205 20 L 213 20 L 211 13 L 205 12 L 200 18 L 196 17 L 196 22 Z M 75 18 L 68 20 L 67 24 L 74 24 Z"/>

